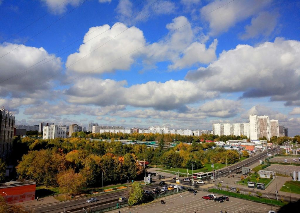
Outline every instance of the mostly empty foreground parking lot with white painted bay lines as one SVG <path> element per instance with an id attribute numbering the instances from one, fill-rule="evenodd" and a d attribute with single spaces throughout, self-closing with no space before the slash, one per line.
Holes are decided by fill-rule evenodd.
<path id="1" fill-rule="evenodd" d="M 212 200 L 203 200 L 201 197 L 207 193 L 198 191 L 194 196 L 193 193 L 184 192 L 181 194 L 172 195 L 162 198 L 165 204 L 161 204 L 161 200 L 155 200 L 152 203 L 143 204 L 140 206 L 127 207 L 120 209 L 121 213 L 238 213 L 249 211 L 251 213 L 266 213 L 271 210 L 270 205 L 255 203 L 252 201 L 241 200 L 238 198 L 229 197 L 229 201 L 223 203 L 214 202 Z M 274 211 L 278 211 L 278 207 L 273 206 Z M 110 211 L 110 213 L 118 212 L 118 210 Z"/>

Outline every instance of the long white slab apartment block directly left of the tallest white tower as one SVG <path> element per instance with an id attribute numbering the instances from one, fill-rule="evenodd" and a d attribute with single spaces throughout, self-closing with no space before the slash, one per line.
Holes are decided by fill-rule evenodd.
<path id="1" fill-rule="evenodd" d="M 250 137 L 249 123 L 214 123 L 213 135 L 245 135 Z"/>

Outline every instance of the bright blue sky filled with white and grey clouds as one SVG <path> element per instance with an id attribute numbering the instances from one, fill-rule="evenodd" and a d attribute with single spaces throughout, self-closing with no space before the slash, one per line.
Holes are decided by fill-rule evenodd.
<path id="1" fill-rule="evenodd" d="M 0 105 L 16 124 L 299 135 L 300 1 L 0 0 Z"/>

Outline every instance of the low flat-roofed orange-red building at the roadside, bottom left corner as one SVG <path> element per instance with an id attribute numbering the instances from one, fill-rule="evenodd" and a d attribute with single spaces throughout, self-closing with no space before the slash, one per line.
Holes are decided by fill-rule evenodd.
<path id="1" fill-rule="evenodd" d="M 35 185 L 35 182 L 29 180 L 0 183 L 0 194 L 5 200 L 7 199 L 8 204 L 34 200 Z"/>

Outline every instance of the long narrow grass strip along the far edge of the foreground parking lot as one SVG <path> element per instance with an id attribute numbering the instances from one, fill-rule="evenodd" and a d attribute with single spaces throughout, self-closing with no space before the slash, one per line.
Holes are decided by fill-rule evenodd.
<path id="1" fill-rule="evenodd" d="M 210 189 L 209 191 L 213 192 L 213 193 L 216 192 L 215 189 Z M 265 197 L 259 198 L 256 196 L 256 194 L 252 194 L 252 196 L 249 196 L 247 194 L 240 194 L 240 193 L 236 193 L 236 192 L 223 191 L 223 190 L 218 190 L 218 189 L 217 189 L 217 194 L 242 198 L 242 199 L 251 200 L 251 201 L 255 201 L 255 202 L 259 202 L 259 203 L 271 204 L 271 202 L 268 198 L 265 198 Z M 287 202 L 284 202 L 284 201 L 281 202 L 281 200 L 273 200 L 273 199 L 271 199 L 271 200 L 272 200 L 272 205 L 284 206 L 287 204 Z"/>

